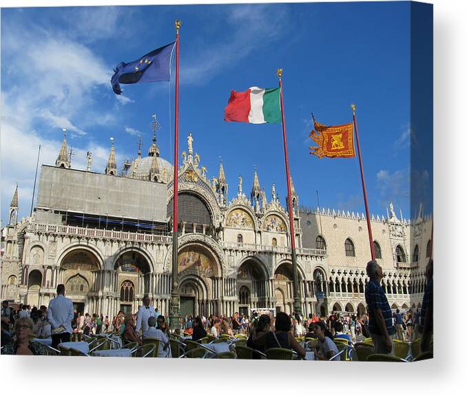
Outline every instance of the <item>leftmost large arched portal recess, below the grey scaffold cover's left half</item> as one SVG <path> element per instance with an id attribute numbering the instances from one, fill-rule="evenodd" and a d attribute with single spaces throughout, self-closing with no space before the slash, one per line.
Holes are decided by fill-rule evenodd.
<path id="1" fill-rule="evenodd" d="M 61 282 L 65 284 L 65 293 L 72 299 L 77 312 L 90 314 L 96 307 L 90 304 L 89 295 L 94 290 L 94 280 L 100 266 L 91 251 L 74 249 L 67 253 L 60 264 Z"/>

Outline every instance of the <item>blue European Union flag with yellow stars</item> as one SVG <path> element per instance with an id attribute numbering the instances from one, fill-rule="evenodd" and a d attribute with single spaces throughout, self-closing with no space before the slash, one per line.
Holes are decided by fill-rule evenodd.
<path id="1" fill-rule="evenodd" d="M 120 84 L 170 81 L 170 60 L 174 47 L 175 41 L 141 56 L 137 61 L 118 64 L 110 80 L 114 92 L 117 95 L 122 93 Z"/>

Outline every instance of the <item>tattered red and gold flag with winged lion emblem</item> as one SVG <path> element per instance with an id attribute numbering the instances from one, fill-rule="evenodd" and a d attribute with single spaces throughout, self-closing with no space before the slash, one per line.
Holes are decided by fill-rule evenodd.
<path id="1" fill-rule="evenodd" d="M 353 123 L 344 125 L 326 125 L 315 123 L 315 129 L 310 132 L 310 138 L 318 146 L 310 146 L 310 154 L 322 157 L 355 157 L 353 145 Z"/>

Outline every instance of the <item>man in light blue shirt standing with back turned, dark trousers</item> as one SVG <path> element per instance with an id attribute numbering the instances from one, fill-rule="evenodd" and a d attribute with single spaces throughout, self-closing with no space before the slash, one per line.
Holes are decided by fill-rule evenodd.
<path id="1" fill-rule="evenodd" d="M 56 298 L 50 300 L 47 319 L 52 328 L 52 348 L 57 348 L 61 342 L 69 342 L 72 334 L 74 317 L 73 302 L 65 297 L 65 285 L 56 286 Z"/>

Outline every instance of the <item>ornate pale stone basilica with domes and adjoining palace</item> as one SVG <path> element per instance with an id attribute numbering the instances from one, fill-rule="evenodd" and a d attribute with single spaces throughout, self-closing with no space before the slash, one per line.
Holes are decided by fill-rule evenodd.
<path id="1" fill-rule="evenodd" d="M 288 208 L 266 194 L 258 171 L 229 193 L 225 169 L 207 177 L 191 134 L 178 170 L 178 284 L 183 314 L 291 313 L 293 271 Z M 169 313 L 172 282 L 174 169 L 160 157 L 156 134 L 147 156 L 118 174 L 114 145 L 103 173 L 72 169 L 66 136 L 55 166 L 42 165 L 37 206 L 18 220 L 14 193 L 4 230 L 1 298 L 47 305 L 56 285 L 81 313 L 136 312 L 143 295 Z M 269 188 L 268 188 L 269 189 Z M 246 191 L 249 191 L 246 192 Z M 268 196 L 269 195 L 269 196 Z M 302 312 L 364 313 L 370 249 L 362 213 L 300 206 L 292 183 Z M 232 197 L 232 198 L 230 198 Z M 393 309 L 420 306 L 432 218 L 404 220 L 391 204 L 371 218 L 382 286 Z"/>

